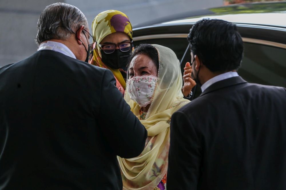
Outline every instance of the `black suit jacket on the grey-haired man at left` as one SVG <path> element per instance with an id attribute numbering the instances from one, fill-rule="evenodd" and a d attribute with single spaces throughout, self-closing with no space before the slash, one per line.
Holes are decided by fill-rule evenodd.
<path id="1" fill-rule="evenodd" d="M 110 70 L 52 50 L 0 69 L 0 189 L 122 189 L 147 132 Z M 6 188 L 3 188 L 6 187 Z"/>

